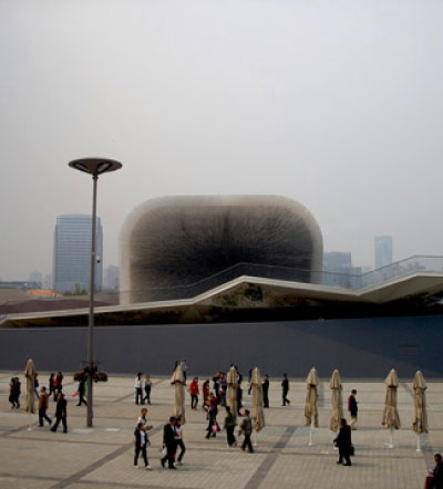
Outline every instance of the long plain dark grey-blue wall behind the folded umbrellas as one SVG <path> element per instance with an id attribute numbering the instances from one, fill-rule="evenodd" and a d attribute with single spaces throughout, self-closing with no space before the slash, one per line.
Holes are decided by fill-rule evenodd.
<path id="1" fill-rule="evenodd" d="M 443 377 L 442 316 L 238 324 L 96 327 L 96 361 L 113 373 L 169 374 L 187 358 L 189 375 L 207 375 L 237 363 L 243 373 L 305 377 L 316 366 L 329 377 L 401 378 L 416 370 Z M 40 371 L 76 371 L 86 357 L 86 329 L 0 330 L 0 368 L 23 370 L 32 357 Z"/>

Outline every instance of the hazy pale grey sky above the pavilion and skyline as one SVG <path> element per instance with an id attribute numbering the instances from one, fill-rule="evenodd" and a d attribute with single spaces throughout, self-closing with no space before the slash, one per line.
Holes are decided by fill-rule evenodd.
<path id="1" fill-rule="evenodd" d="M 176 194 L 277 194 L 326 250 L 443 254 L 441 0 L 0 0 L 0 277 L 52 269 L 90 212 L 105 263 L 127 214 Z"/>

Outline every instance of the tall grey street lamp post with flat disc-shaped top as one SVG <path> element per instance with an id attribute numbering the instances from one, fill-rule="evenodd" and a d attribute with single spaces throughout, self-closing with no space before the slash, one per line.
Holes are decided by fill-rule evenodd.
<path id="1" fill-rule="evenodd" d="M 92 175 L 93 193 L 92 193 L 92 236 L 91 236 L 91 277 L 90 277 L 90 314 L 87 323 L 87 406 L 86 406 L 86 426 L 92 427 L 93 418 L 93 375 L 96 371 L 94 362 L 94 289 L 95 289 L 95 227 L 96 227 L 96 191 L 99 175 L 107 171 L 115 171 L 122 168 L 120 162 L 107 158 L 82 158 L 74 159 L 69 163 L 71 168 Z"/>

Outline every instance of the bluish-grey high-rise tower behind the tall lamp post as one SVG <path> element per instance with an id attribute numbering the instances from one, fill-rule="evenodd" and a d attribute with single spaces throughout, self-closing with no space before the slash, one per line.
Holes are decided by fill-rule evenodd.
<path id="1" fill-rule="evenodd" d="M 53 288 L 58 292 L 90 290 L 92 217 L 68 215 L 56 218 L 53 256 Z M 103 229 L 96 218 L 95 289 L 103 282 Z"/>

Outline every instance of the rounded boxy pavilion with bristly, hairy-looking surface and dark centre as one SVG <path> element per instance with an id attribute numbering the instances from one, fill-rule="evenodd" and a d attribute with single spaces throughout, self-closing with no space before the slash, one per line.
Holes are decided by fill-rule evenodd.
<path id="1" fill-rule="evenodd" d="M 127 217 L 120 245 L 122 303 L 150 301 L 153 289 L 193 284 L 238 263 L 289 267 L 297 270 L 292 280 L 321 281 L 320 228 L 306 207 L 285 197 L 148 200 Z M 247 267 L 240 269 L 237 275 Z M 271 267 L 253 269 L 272 278 Z"/>

